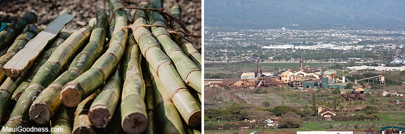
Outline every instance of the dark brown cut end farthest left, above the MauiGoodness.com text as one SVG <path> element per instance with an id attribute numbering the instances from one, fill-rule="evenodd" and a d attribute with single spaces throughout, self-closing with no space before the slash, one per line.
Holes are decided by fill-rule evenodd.
<path id="1" fill-rule="evenodd" d="M 38 124 L 46 124 L 51 119 L 51 113 L 47 105 L 34 103 L 29 109 L 29 117 Z"/>

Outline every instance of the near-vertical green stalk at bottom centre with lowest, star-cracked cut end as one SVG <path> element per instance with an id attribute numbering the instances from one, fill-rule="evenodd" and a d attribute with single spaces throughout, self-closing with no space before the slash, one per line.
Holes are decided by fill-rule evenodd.
<path id="1" fill-rule="evenodd" d="M 121 98 L 121 125 L 127 133 L 141 133 L 148 125 L 141 59 L 139 46 L 135 39 L 130 37 L 127 42 L 126 62 L 123 68 L 125 79 Z"/>

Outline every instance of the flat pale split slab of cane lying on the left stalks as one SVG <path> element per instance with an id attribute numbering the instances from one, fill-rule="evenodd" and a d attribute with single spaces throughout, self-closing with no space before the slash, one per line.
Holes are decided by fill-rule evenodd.
<path id="1" fill-rule="evenodd" d="M 20 75 L 20 73 L 26 69 L 27 65 L 34 62 L 39 54 L 41 54 L 46 44 L 55 38 L 64 25 L 73 18 L 74 16 L 69 14 L 59 15 L 44 31 L 31 39 L 22 50 L 4 65 L 3 69 L 6 76 L 14 78 Z"/>

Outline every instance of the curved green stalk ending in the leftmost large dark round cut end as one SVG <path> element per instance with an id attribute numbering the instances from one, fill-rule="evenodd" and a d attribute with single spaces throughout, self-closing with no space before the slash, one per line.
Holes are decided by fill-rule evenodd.
<path id="1" fill-rule="evenodd" d="M 104 11 L 97 12 L 97 24 L 93 29 L 90 41 L 72 61 L 69 69 L 63 72 L 54 82 L 38 95 L 30 107 L 29 115 L 39 124 L 47 123 L 61 104 L 60 92 L 62 86 L 86 72 L 97 60 L 104 46 L 107 15 Z"/>

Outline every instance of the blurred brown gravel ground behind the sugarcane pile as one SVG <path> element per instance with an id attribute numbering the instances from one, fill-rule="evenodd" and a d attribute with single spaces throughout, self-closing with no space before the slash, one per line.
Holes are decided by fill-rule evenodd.
<path id="1" fill-rule="evenodd" d="M 137 7 L 139 3 L 147 2 L 122 0 L 124 6 Z M 173 5 L 180 5 L 182 8 L 182 21 L 186 24 L 193 34 L 201 35 L 201 1 L 199 0 L 167 0 L 164 8 L 170 13 L 170 8 Z M 68 23 L 64 29 L 69 31 L 78 30 L 86 25 L 89 20 L 96 17 L 98 10 L 104 10 L 108 14 L 108 3 L 106 1 L 96 0 L 0 0 L 0 22 L 14 22 L 27 12 L 33 12 L 38 16 L 38 21 L 35 23 L 38 27 L 45 28 L 53 21 L 63 9 L 68 9 L 71 14 L 76 15 L 75 18 Z M 7 8 L 4 8 L 7 7 Z M 130 10 L 132 15 L 135 10 Z M 201 42 L 196 39 L 191 39 L 197 48 L 201 50 Z"/>

